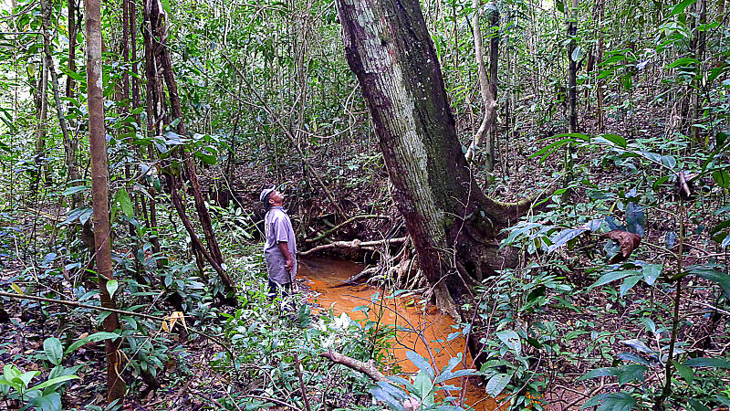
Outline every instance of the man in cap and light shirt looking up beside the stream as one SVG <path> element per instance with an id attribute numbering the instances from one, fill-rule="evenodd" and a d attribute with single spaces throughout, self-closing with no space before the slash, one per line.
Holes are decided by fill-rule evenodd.
<path id="1" fill-rule="evenodd" d="M 291 290 L 297 276 L 297 239 L 291 220 L 282 208 L 284 195 L 274 187 L 266 188 L 261 192 L 261 202 L 266 207 L 264 258 L 268 272 L 268 297 L 274 300 L 280 289 L 284 289 L 283 295 L 287 296 L 287 290 Z"/>

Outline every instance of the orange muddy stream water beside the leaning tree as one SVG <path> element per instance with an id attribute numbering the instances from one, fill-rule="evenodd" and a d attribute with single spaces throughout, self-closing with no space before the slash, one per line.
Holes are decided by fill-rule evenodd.
<path id="1" fill-rule="evenodd" d="M 421 354 L 426 360 L 431 360 L 433 357 L 439 369 L 443 369 L 449 359 L 455 357 L 457 353 L 464 355 L 463 336 L 447 342 L 449 334 L 461 332 L 461 329 L 454 326 L 451 317 L 441 314 L 435 307 L 427 306 L 423 310 L 421 304 L 413 302 L 413 298 L 397 297 L 382 299 L 382 305 L 386 308 L 379 310 L 377 306 L 373 307 L 370 300 L 374 293 L 380 293 L 381 290 L 370 286 L 341 286 L 342 281 L 357 274 L 361 269 L 362 266 L 359 264 L 346 260 L 303 258 L 299 262 L 298 273 L 315 291 L 311 301 L 324 310 L 331 307 L 338 315 L 347 312 L 353 320 L 363 320 L 365 313 L 353 310 L 359 306 L 370 306 L 370 320 L 378 321 L 377 313 L 381 311 L 381 324 L 414 330 L 415 332 L 397 332 L 394 341 L 391 341 L 392 348 L 389 351 L 401 366 L 403 374 L 418 372 L 418 368 L 406 358 L 406 352 L 409 350 Z M 474 368 L 468 353 L 465 355 L 465 363 L 467 368 Z M 464 364 L 459 364 L 457 369 L 459 368 L 464 368 Z M 456 386 L 462 384 L 461 379 L 454 379 L 448 383 Z M 452 395 L 458 396 L 458 393 Z M 472 406 L 477 411 L 492 411 L 496 408 L 495 400 L 485 394 L 483 385 L 476 384 L 475 377 L 467 382 L 464 403 L 465 408 Z"/>

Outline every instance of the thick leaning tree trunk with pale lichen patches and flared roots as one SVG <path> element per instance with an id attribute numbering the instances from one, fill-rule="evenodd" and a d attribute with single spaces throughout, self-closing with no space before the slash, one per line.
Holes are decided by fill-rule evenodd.
<path id="1" fill-rule="evenodd" d="M 456 136 L 418 0 L 338 0 L 349 67 L 360 81 L 419 268 L 455 318 L 463 293 L 503 260 L 495 237 L 530 206 L 488 198 Z"/>

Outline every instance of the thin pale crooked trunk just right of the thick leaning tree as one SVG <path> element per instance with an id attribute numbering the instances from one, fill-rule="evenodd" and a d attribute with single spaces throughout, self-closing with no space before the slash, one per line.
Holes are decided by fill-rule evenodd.
<path id="1" fill-rule="evenodd" d="M 479 151 L 479 147 L 485 144 L 487 133 L 492 128 L 492 123 L 495 122 L 497 109 L 495 95 L 490 89 L 489 75 L 485 68 L 482 29 L 479 26 L 479 16 L 481 14 L 481 5 L 479 5 L 479 0 L 472 0 L 472 8 L 474 8 L 474 16 L 472 17 L 474 52 L 476 56 L 476 68 L 479 76 L 479 90 L 482 94 L 482 101 L 485 103 L 485 114 L 479 125 L 479 130 L 477 130 L 474 134 L 472 144 L 466 151 L 466 161 L 468 163 L 474 162 L 474 157 L 476 156 L 477 151 Z M 491 144 L 488 144 L 485 147 L 485 154 L 487 157 L 486 163 L 491 161 L 494 165 L 494 147 Z"/>

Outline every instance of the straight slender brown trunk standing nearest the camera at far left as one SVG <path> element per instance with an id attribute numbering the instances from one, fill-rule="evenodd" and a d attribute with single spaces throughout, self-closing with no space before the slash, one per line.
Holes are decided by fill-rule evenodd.
<path id="1" fill-rule="evenodd" d="M 89 93 L 89 145 L 91 150 L 91 196 L 94 208 L 94 245 L 96 248 L 99 297 L 101 306 L 116 309 L 107 290 L 107 282 L 114 279 L 111 267 L 109 216 L 109 165 L 104 130 L 104 96 L 101 86 L 101 5 L 99 0 L 86 0 L 87 83 Z M 104 331 L 120 328 L 115 312 L 103 321 Z M 124 381 L 121 379 L 120 339 L 105 340 L 107 357 L 107 402 L 123 400 Z"/>

